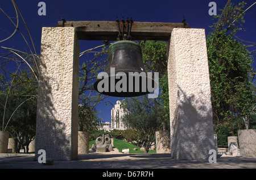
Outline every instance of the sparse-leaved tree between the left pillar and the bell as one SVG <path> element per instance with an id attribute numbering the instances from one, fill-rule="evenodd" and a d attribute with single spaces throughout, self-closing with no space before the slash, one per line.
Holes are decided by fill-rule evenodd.
<path id="1" fill-rule="evenodd" d="M 94 49 L 94 48 L 93 48 Z M 91 49 L 89 49 L 91 50 Z M 80 53 L 80 58 L 85 52 Z M 84 63 L 80 67 L 80 86 L 79 86 L 79 131 L 87 131 L 93 133 L 97 130 L 97 125 L 101 123 L 98 118 L 100 113 L 96 109 L 96 105 L 101 103 L 107 96 L 95 93 L 93 83 L 97 78 L 97 74 L 104 69 L 106 64 L 106 47 L 101 52 L 95 53 L 93 59 L 85 58 Z"/>

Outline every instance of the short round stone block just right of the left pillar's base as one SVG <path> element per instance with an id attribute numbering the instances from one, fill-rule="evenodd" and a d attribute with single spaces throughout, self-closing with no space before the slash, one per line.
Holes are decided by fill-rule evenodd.
<path id="1" fill-rule="evenodd" d="M 79 131 L 78 137 L 78 153 L 88 154 L 89 153 L 89 132 Z"/>

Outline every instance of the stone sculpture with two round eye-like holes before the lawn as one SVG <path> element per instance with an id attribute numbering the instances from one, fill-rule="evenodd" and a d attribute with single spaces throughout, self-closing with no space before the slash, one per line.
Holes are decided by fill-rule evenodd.
<path id="1" fill-rule="evenodd" d="M 113 146 L 111 144 L 111 139 L 109 135 L 105 135 L 104 133 L 102 136 L 97 137 L 96 145 L 92 145 L 92 150 L 96 152 L 109 152 L 113 151 Z"/>

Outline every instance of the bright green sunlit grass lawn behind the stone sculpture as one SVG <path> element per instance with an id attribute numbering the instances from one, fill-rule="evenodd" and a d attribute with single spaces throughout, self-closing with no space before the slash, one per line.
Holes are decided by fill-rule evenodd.
<path id="1" fill-rule="evenodd" d="M 92 144 L 95 144 L 95 140 L 89 141 L 89 149 L 92 148 Z M 114 139 L 114 147 L 117 148 L 119 152 L 122 152 L 122 149 L 125 148 L 129 149 L 130 153 L 144 153 L 144 150 L 139 150 L 139 146 L 119 139 Z M 134 148 L 137 148 L 138 150 L 133 150 Z M 148 153 L 156 153 L 156 150 L 150 150 Z"/>

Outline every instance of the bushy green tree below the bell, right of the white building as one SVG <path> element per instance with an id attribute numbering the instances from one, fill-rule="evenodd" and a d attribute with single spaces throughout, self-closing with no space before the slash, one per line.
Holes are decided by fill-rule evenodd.
<path id="1" fill-rule="evenodd" d="M 143 143 L 145 153 L 155 141 L 155 132 L 165 126 L 163 123 L 163 106 L 159 99 L 148 99 L 147 96 L 126 98 L 122 102 L 125 115 L 122 121 L 127 128 L 135 129 Z"/>

